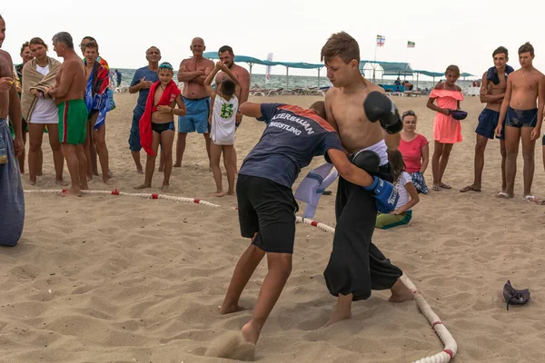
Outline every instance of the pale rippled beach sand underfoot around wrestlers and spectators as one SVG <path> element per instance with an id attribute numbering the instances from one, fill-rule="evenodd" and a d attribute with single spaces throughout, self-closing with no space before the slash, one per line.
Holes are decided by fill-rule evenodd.
<path id="1" fill-rule="evenodd" d="M 319 97 L 253 97 L 256 102 L 309 106 Z M 417 132 L 431 141 L 434 113 L 427 98 L 395 98 L 400 111 L 418 114 Z M 93 190 L 134 191 L 137 174 L 127 138 L 135 95 L 115 94 L 106 119 L 111 185 L 95 177 Z M 421 196 L 406 227 L 375 231 L 374 243 L 421 291 L 458 343 L 456 362 L 543 362 L 545 340 L 545 206 L 522 200 L 522 156 L 516 196 L 500 191 L 499 142 L 489 142 L 482 191 L 461 193 L 472 182 L 475 126 L 482 104 L 467 97 L 463 142 L 456 144 L 444 182 L 452 190 Z M 237 132 L 239 165 L 258 142 L 263 123 L 245 118 Z M 26 146 L 28 148 L 28 144 Z M 45 136 L 44 176 L 25 190 L 58 189 Z M 144 151 L 142 161 L 144 162 Z M 310 167 L 322 163 L 315 158 Z M 310 170 L 303 170 L 301 176 Z M 65 177 L 68 180 L 66 167 Z M 425 174 L 431 186 L 431 165 Z M 301 178 L 300 178 L 301 179 Z M 154 173 L 160 192 L 163 174 Z M 226 179 L 223 181 L 226 185 Z M 297 185 L 297 184 L 296 184 Z M 63 199 L 26 193 L 25 231 L 19 244 L 0 249 L 0 362 L 84 363 L 228 362 L 203 354 L 223 333 L 238 331 L 251 310 L 218 312 L 234 264 L 248 240 L 240 236 L 236 198 L 211 197 L 212 173 L 202 135 L 190 134 L 183 167 L 174 168 L 169 195 L 226 208 L 129 196 L 84 195 Z M 335 225 L 334 198 L 322 197 L 315 216 Z M 536 145 L 533 192 L 545 197 L 541 144 Z M 304 206 L 302 206 L 304 207 Z M 440 352 L 441 340 L 413 301 L 393 304 L 388 291 L 359 301 L 353 318 L 325 324 L 336 299 L 322 272 L 332 234 L 298 224 L 292 276 L 260 338 L 260 362 L 410 362 Z M 266 265 L 243 293 L 252 309 Z M 501 291 L 510 279 L 529 288 L 531 301 L 505 308 Z"/>

